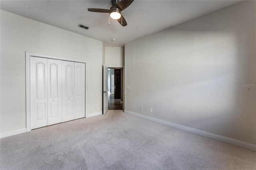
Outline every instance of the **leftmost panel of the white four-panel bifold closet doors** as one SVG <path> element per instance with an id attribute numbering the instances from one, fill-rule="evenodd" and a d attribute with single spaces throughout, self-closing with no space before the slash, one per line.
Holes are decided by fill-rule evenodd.
<path id="1" fill-rule="evenodd" d="M 47 59 L 30 58 L 31 129 L 47 126 Z"/>

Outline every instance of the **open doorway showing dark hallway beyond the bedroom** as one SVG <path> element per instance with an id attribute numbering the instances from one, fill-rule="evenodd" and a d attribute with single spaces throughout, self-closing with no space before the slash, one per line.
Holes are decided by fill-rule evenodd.
<path id="1" fill-rule="evenodd" d="M 108 110 L 122 110 L 122 68 L 108 68 Z"/>

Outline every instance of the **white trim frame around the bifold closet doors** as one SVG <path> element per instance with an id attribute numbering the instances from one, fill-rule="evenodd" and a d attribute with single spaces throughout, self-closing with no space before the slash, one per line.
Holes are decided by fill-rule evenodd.
<path id="1" fill-rule="evenodd" d="M 58 60 L 64 60 L 64 61 L 85 63 L 85 117 L 88 118 L 88 61 L 82 60 L 82 59 L 74 59 L 74 58 L 67 58 L 67 57 L 61 57 L 56 55 L 48 55 L 48 54 L 26 51 L 26 132 L 31 131 L 30 57 L 42 57 L 42 58 L 49 58 L 49 59 L 58 59 Z"/>

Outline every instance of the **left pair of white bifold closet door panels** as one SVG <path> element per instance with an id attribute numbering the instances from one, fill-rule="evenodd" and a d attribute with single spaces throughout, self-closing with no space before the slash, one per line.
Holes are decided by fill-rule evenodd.
<path id="1" fill-rule="evenodd" d="M 31 129 L 62 122 L 61 60 L 30 58 Z"/>

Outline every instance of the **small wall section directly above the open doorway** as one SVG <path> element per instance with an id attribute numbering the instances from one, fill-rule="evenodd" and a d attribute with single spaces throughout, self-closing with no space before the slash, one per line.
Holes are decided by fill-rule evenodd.
<path id="1" fill-rule="evenodd" d="M 122 66 L 124 65 L 124 47 L 105 47 L 106 65 Z"/>

